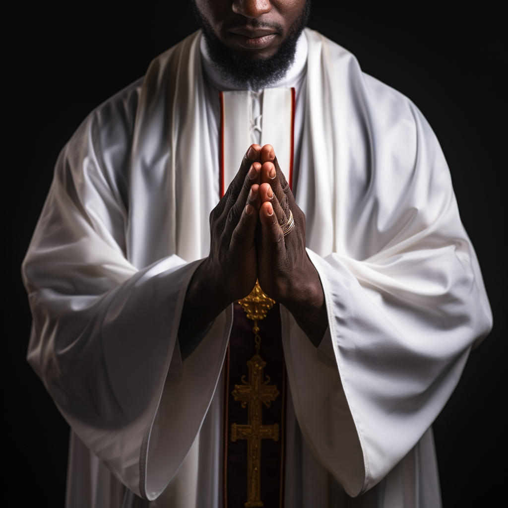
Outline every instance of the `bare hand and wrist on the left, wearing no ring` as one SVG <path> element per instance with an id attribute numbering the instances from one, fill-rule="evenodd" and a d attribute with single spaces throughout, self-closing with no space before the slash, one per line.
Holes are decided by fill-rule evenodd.
<path id="1" fill-rule="evenodd" d="M 256 284 L 254 237 L 261 199 L 261 146 L 250 145 L 224 197 L 210 213 L 210 253 L 194 272 L 183 304 L 180 345 L 204 330 Z"/>

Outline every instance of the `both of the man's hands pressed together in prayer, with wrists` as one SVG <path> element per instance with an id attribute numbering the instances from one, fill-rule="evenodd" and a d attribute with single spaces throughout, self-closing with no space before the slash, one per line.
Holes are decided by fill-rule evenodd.
<path id="1" fill-rule="evenodd" d="M 256 279 L 319 345 L 328 319 L 320 277 L 305 250 L 305 214 L 273 147 L 253 144 L 210 213 L 210 253 L 187 288 L 179 340 L 192 339 L 228 305 L 247 296 Z"/>

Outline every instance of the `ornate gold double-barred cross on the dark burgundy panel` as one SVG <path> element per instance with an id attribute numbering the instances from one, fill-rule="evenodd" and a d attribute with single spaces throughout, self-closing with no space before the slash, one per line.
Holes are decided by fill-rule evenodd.
<path id="1" fill-rule="evenodd" d="M 269 385 L 270 376 L 263 382 L 266 362 L 254 355 L 248 362 L 249 380 L 242 376 L 242 385 L 235 385 L 233 396 L 242 403 L 248 404 L 247 425 L 231 425 L 231 440 L 247 439 L 247 502 L 245 506 L 263 506 L 261 497 L 261 440 L 279 439 L 279 425 L 263 425 L 262 407 L 270 407 L 279 394 L 275 385 Z"/>

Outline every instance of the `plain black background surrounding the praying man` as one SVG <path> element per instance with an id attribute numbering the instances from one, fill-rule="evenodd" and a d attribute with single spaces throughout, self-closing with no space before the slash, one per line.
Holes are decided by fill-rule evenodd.
<path id="1" fill-rule="evenodd" d="M 455 5 L 316 0 L 309 21 L 427 117 L 483 270 L 494 330 L 434 424 L 445 508 L 496 506 L 505 479 L 501 13 Z M 8 505 L 62 506 L 65 496 L 69 427 L 25 361 L 30 312 L 19 276 L 56 157 L 90 110 L 196 27 L 187 2 L 18 2 L 4 11 L 4 496 L 17 498 Z"/>

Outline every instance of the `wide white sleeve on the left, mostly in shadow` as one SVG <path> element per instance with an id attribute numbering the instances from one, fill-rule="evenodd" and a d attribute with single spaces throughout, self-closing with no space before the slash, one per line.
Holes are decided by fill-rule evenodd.
<path id="1" fill-rule="evenodd" d="M 199 261 L 173 255 L 138 270 L 126 259 L 121 173 L 135 110 L 132 90 L 90 115 L 62 150 L 22 274 L 30 365 L 93 454 L 153 499 L 206 415 L 231 311 L 182 363 L 177 331 Z"/>

